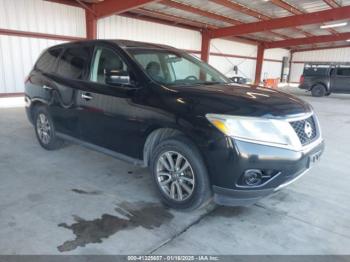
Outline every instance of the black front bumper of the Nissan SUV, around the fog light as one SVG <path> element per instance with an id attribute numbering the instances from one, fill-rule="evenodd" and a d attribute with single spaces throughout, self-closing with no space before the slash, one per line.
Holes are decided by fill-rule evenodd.
<path id="1" fill-rule="evenodd" d="M 288 186 L 310 170 L 310 158 L 314 155 L 321 156 L 325 147 L 321 139 L 303 151 L 237 140 L 233 143 L 232 159 L 225 164 L 229 180 L 219 180 L 213 185 L 214 201 L 220 205 L 251 205 Z M 247 169 L 274 170 L 275 175 L 259 186 L 240 186 L 238 183 Z M 227 175 L 227 170 L 232 170 L 231 174 Z M 222 185 L 218 185 L 220 182 Z"/>

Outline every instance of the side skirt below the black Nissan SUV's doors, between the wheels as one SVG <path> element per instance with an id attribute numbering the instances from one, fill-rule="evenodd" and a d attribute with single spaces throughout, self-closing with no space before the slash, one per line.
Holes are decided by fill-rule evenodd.
<path id="1" fill-rule="evenodd" d="M 107 148 L 100 147 L 100 146 L 91 144 L 89 142 L 85 142 L 83 140 L 80 140 L 78 138 L 71 137 L 69 135 L 65 135 L 65 134 L 59 133 L 59 132 L 56 132 L 56 135 L 57 135 L 57 137 L 62 138 L 63 140 L 67 140 L 67 141 L 70 141 L 70 142 L 82 145 L 82 146 L 84 146 L 86 148 L 89 148 L 89 149 L 95 150 L 97 152 L 109 155 L 111 157 L 114 157 L 114 158 L 117 158 L 119 160 L 128 162 L 128 163 L 133 164 L 135 166 L 147 167 L 145 165 L 144 161 L 142 161 L 140 159 L 132 158 L 132 157 L 129 157 L 127 155 L 124 155 L 124 154 L 121 154 L 121 153 L 117 153 L 117 152 L 109 150 Z"/>

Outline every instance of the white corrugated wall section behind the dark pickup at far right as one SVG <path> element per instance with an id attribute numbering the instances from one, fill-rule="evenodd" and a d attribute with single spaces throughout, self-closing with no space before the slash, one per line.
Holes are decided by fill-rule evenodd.
<path id="1" fill-rule="evenodd" d="M 303 62 L 350 62 L 350 47 L 297 52 L 293 54 L 291 82 L 299 82 L 303 73 Z"/>

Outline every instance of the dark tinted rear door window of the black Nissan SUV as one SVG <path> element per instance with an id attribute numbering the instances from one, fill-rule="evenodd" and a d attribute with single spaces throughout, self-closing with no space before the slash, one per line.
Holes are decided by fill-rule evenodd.
<path id="1" fill-rule="evenodd" d="M 59 61 L 57 73 L 66 78 L 82 79 L 90 53 L 90 47 L 68 48 Z"/>

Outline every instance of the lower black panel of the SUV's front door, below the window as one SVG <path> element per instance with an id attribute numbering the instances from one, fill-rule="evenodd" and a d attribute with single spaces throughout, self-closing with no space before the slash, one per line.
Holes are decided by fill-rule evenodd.
<path id="1" fill-rule="evenodd" d="M 139 158 L 137 145 L 142 142 L 142 135 L 140 123 L 134 117 L 132 98 L 135 94 L 125 90 L 113 90 L 113 93 L 79 91 L 83 140 Z"/>

